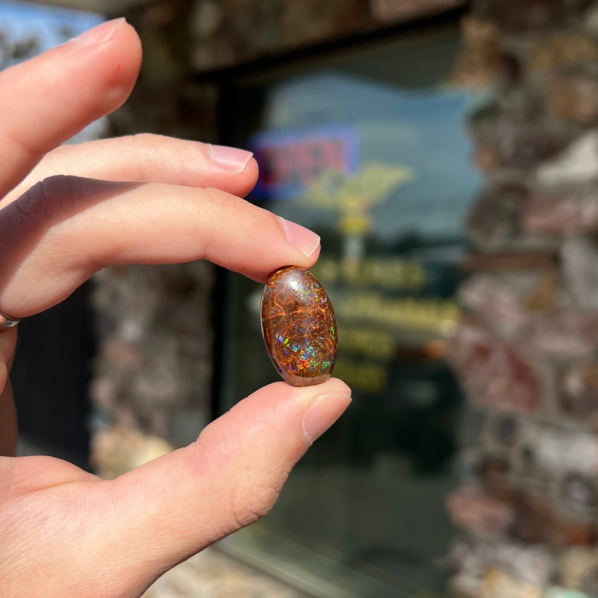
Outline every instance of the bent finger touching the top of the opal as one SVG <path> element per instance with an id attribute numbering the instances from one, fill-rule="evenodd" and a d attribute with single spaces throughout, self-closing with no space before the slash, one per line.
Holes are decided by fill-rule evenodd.
<path id="1" fill-rule="evenodd" d="M 320 237 L 217 189 L 45 179 L 0 210 L 0 312 L 33 315 L 118 264 L 206 259 L 265 281 L 310 268 Z"/>

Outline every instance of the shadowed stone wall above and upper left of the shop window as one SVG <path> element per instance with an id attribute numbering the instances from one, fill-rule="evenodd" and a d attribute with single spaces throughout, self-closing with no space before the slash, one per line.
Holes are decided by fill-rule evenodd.
<path id="1" fill-rule="evenodd" d="M 125 16 L 144 43 L 132 97 L 112 118 L 115 135 L 152 132 L 217 141 L 217 74 L 442 14 L 465 0 L 151 0 Z M 114 14 L 112 16 L 120 16 Z"/>

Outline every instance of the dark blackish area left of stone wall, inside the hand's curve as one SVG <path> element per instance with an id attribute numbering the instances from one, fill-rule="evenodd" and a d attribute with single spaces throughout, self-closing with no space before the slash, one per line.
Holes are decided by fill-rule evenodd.
<path id="1" fill-rule="evenodd" d="M 67 300 L 21 322 L 11 373 L 20 454 L 50 454 L 86 469 L 95 352 L 90 288 L 87 282 Z"/>

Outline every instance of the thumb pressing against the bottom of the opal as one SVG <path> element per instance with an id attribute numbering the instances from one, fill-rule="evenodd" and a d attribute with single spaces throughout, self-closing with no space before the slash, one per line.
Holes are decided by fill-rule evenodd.
<path id="1" fill-rule="evenodd" d="M 129 579 L 132 569 L 157 577 L 270 511 L 295 463 L 350 401 L 337 379 L 307 388 L 277 382 L 196 443 L 114 480 L 109 502 L 119 515 L 107 526 L 109 542 L 127 555 Z"/>

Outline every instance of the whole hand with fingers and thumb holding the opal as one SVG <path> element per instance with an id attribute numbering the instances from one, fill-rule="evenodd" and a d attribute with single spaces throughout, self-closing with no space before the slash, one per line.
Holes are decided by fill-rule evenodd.
<path id="1" fill-rule="evenodd" d="M 138 36 L 118 20 L 0 73 L 1 313 L 47 309 L 110 264 L 206 258 L 264 281 L 278 267 L 315 263 L 315 234 L 235 197 L 257 178 L 246 152 L 156 136 L 51 151 L 118 108 L 140 63 Z M 59 459 L 11 456 L 15 343 L 16 328 L 0 331 L 2 598 L 141 596 L 266 514 L 350 402 L 340 380 L 276 383 L 196 443 L 100 480 Z"/>

